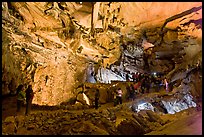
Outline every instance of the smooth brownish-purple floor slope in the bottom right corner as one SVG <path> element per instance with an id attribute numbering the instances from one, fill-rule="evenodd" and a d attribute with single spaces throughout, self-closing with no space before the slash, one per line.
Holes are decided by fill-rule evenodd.
<path id="1" fill-rule="evenodd" d="M 173 121 L 146 135 L 202 135 L 202 111 L 190 108 L 175 115 L 166 114 L 161 118 Z"/>

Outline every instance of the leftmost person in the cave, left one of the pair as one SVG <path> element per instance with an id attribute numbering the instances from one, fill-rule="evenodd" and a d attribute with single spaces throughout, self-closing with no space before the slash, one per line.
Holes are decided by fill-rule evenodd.
<path id="1" fill-rule="evenodd" d="M 23 106 L 25 102 L 25 91 L 23 90 L 23 85 L 19 85 L 16 89 L 17 93 L 17 112 L 20 112 L 21 107 Z"/>

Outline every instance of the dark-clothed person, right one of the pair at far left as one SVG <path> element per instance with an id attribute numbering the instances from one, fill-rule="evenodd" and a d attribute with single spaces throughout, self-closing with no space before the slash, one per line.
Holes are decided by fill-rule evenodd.
<path id="1" fill-rule="evenodd" d="M 34 97 L 34 92 L 32 89 L 32 85 L 29 85 L 26 89 L 26 115 L 30 114 L 31 106 L 32 106 L 32 100 Z"/>

